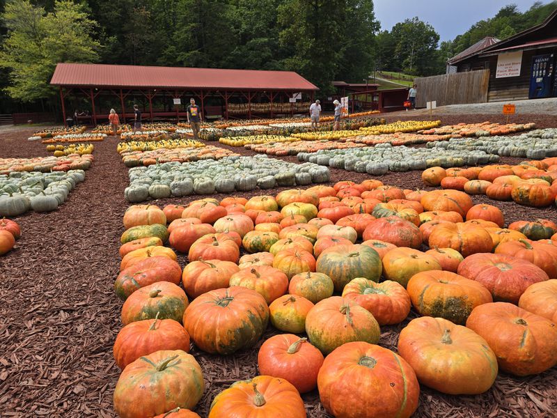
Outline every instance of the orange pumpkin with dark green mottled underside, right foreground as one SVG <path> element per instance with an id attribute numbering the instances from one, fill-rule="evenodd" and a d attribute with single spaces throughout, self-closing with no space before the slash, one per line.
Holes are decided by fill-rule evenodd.
<path id="1" fill-rule="evenodd" d="M 482 284 L 453 272 L 414 274 L 407 291 L 418 314 L 445 318 L 459 325 L 466 324 L 472 309 L 493 302 L 492 294 Z"/>

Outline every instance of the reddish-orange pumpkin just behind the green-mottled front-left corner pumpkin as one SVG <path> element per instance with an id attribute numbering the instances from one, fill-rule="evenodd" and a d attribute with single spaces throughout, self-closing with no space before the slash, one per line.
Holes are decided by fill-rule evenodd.
<path id="1" fill-rule="evenodd" d="M 189 352 L 189 335 L 179 322 L 155 317 L 130 323 L 118 332 L 113 355 L 116 365 L 123 370 L 139 357 L 158 350 Z"/>

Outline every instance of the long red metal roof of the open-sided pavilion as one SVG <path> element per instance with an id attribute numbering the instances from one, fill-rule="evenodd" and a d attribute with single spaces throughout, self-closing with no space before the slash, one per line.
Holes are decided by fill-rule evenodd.
<path id="1" fill-rule="evenodd" d="M 318 90 L 292 71 L 148 67 L 58 63 L 50 84 L 56 86 L 134 88 L 221 88 L 230 90 Z"/>

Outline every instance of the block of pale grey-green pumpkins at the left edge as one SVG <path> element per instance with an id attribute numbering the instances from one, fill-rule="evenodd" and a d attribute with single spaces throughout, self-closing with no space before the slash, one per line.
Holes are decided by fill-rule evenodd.
<path id="1" fill-rule="evenodd" d="M 83 180 L 83 170 L 52 173 L 14 171 L 10 176 L 0 175 L 0 216 L 19 216 L 29 210 L 56 210 Z"/>

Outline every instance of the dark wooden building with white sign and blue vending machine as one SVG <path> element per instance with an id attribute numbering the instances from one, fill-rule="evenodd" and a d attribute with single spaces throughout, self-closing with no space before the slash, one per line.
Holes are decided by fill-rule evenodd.
<path id="1" fill-rule="evenodd" d="M 504 40 L 485 38 L 448 60 L 448 73 L 489 70 L 487 101 L 557 97 L 557 10 Z"/>

